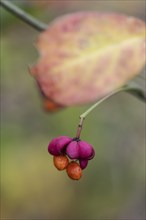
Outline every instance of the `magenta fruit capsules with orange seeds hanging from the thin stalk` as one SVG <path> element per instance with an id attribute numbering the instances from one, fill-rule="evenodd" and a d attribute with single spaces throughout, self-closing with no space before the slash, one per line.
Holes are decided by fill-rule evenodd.
<path id="1" fill-rule="evenodd" d="M 71 179 L 79 180 L 82 170 L 88 165 L 95 151 L 93 147 L 79 138 L 59 136 L 48 145 L 48 152 L 54 156 L 54 165 L 58 170 L 66 169 Z"/>

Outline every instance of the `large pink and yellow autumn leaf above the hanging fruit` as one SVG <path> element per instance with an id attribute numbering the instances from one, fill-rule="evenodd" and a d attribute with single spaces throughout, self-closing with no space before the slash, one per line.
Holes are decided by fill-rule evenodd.
<path id="1" fill-rule="evenodd" d="M 145 23 L 120 14 L 74 13 L 53 21 L 36 47 L 40 58 L 30 71 L 44 97 L 58 106 L 81 105 L 140 73 Z"/>

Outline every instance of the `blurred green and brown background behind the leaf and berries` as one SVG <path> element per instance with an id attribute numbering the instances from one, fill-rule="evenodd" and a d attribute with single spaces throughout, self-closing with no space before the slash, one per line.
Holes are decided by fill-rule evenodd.
<path id="1" fill-rule="evenodd" d="M 85 10 L 146 15 L 145 0 L 11 2 L 45 23 Z M 55 169 L 47 145 L 58 135 L 74 137 L 89 105 L 44 112 L 28 72 L 39 33 L 4 9 L 1 25 L 1 219 L 145 219 L 144 103 L 121 93 L 87 117 L 82 139 L 96 157 L 72 181 Z"/>

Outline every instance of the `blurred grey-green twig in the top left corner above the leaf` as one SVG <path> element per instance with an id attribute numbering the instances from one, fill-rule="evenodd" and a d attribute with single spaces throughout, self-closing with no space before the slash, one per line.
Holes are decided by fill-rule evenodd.
<path id="1" fill-rule="evenodd" d="M 10 1 L 1 0 L 0 4 L 6 10 L 8 10 L 12 14 L 16 15 L 17 17 L 19 17 L 22 21 L 29 24 L 30 26 L 32 26 L 36 30 L 43 31 L 47 28 L 46 24 L 44 24 L 43 22 L 40 22 L 39 20 L 37 20 L 33 16 L 29 15 L 28 13 L 26 13 L 25 11 L 23 11 L 22 9 L 20 9 L 19 7 L 17 7 L 13 3 L 11 3 Z"/>

